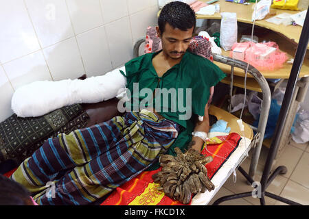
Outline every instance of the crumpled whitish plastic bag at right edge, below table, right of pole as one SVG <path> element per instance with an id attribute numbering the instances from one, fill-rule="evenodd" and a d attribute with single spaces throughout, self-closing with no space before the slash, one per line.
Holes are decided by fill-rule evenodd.
<path id="1" fill-rule="evenodd" d="M 292 139 L 297 144 L 309 142 L 309 111 L 301 110 L 298 113 L 295 123 L 295 130 L 292 133 Z"/>

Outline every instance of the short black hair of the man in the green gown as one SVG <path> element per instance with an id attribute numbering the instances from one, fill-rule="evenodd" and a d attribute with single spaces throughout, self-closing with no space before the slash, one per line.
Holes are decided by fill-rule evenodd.
<path id="1" fill-rule="evenodd" d="M 165 5 L 160 12 L 158 25 L 161 34 L 164 32 L 166 23 L 169 23 L 174 28 L 186 31 L 196 27 L 196 15 L 187 3 L 172 1 Z"/>

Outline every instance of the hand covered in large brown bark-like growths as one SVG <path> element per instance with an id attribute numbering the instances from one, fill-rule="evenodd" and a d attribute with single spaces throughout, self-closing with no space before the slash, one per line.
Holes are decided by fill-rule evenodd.
<path id="1" fill-rule="evenodd" d="M 176 157 L 161 155 L 159 158 L 162 170 L 152 175 L 155 182 L 159 182 L 165 195 L 183 204 L 190 203 L 192 194 L 204 193 L 206 189 L 214 190 L 214 184 L 207 177 L 205 165 L 212 162 L 213 157 L 205 157 L 189 149 L 182 153 L 175 148 Z"/>

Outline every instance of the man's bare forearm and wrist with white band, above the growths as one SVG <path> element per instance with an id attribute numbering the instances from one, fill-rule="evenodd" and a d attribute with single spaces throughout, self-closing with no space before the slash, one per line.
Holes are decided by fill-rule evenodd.
<path id="1" fill-rule="evenodd" d="M 205 106 L 204 118 L 201 122 L 197 121 L 194 131 L 204 131 L 208 133 L 209 131 L 209 114 L 208 114 L 208 104 Z M 192 148 L 198 152 L 201 152 L 204 141 L 199 137 L 192 137 L 192 142 L 188 145 L 188 149 Z"/>

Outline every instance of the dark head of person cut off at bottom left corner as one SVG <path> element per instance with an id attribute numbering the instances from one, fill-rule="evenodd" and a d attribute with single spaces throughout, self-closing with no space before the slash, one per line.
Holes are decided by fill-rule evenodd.
<path id="1" fill-rule="evenodd" d="M 21 184 L 0 175 L 0 205 L 27 205 L 28 192 Z"/>

